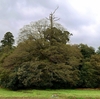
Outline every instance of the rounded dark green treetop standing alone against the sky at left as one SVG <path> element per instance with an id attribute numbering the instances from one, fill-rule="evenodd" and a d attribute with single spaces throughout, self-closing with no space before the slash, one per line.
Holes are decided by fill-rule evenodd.
<path id="1" fill-rule="evenodd" d="M 3 40 L 1 40 L 2 47 L 9 46 L 12 47 L 14 44 L 14 36 L 11 32 L 7 32 L 4 35 Z"/>

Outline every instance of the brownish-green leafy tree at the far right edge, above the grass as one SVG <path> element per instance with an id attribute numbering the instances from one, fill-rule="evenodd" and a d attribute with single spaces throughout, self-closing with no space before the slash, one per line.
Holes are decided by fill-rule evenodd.
<path id="1" fill-rule="evenodd" d="M 80 68 L 80 86 L 85 88 L 100 87 L 100 55 L 93 54 L 88 60 L 84 60 Z"/>

